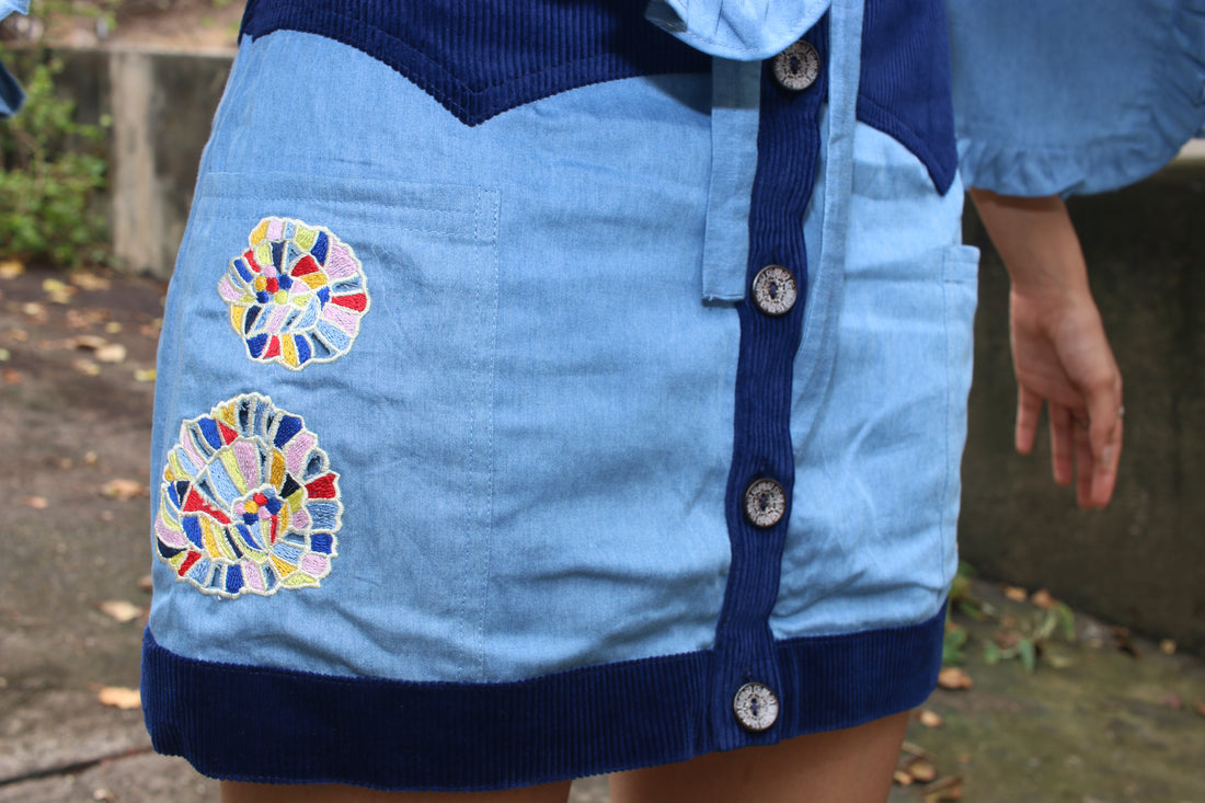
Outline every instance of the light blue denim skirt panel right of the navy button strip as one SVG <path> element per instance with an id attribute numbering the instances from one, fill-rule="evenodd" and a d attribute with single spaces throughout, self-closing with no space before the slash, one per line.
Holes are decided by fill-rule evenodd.
<path id="1" fill-rule="evenodd" d="M 953 191 L 939 195 L 907 148 L 858 124 L 841 315 L 834 333 L 805 329 L 801 348 L 836 341 L 818 409 L 797 368 L 795 493 L 771 619 L 778 638 L 898 623 L 945 599 L 978 257 L 958 245 L 957 181 Z M 813 210 L 810 231 L 815 218 Z"/>

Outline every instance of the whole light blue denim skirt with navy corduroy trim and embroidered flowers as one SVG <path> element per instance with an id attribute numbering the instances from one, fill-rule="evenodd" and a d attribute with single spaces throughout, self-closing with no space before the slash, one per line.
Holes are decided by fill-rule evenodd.
<path id="1" fill-rule="evenodd" d="M 848 123 L 824 20 L 549 68 L 336 5 L 248 16 L 167 295 L 155 748 L 465 791 L 923 701 L 977 264 L 940 1 L 868 4 Z"/>

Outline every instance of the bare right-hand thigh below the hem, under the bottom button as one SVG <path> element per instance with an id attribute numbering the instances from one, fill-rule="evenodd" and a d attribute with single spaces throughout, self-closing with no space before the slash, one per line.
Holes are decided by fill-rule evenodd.
<path id="1" fill-rule="evenodd" d="M 883 803 L 907 714 L 611 776 L 611 803 Z"/>

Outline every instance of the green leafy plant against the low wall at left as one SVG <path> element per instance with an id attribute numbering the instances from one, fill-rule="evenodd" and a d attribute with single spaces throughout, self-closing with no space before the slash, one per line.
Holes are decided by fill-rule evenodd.
<path id="1" fill-rule="evenodd" d="M 54 93 L 58 59 L 27 64 L 25 106 L 0 123 L 0 256 L 70 268 L 106 262 L 102 127 L 76 122 L 75 102 Z"/>

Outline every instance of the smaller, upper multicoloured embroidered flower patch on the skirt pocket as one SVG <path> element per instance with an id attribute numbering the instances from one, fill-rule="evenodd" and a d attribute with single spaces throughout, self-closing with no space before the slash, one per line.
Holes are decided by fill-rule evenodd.
<path id="1" fill-rule="evenodd" d="M 321 225 L 265 217 L 230 260 L 218 293 L 247 356 L 301 370 L 352 347 L 369 311 L 363 265 L 352 247 Z"/>

